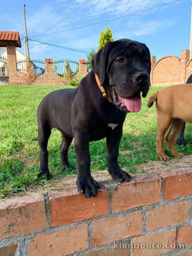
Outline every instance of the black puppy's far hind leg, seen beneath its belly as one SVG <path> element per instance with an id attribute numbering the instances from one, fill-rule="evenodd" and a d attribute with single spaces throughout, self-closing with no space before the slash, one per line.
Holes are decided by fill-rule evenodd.
<path id="1" fill-rule="evenodd" d="M 73 141 L 73 138 L 70 138 L 66 136 L 64 133 L 62 133 L 62 142 L 59 149 L 61 154 L 61 164 L 63 166 L 63 170 L 65 170 L 65 167 L 71 170 L 74 170 L 74 167 L 70 165 L 68 161 L 68 149 L 72 141 Z"/>

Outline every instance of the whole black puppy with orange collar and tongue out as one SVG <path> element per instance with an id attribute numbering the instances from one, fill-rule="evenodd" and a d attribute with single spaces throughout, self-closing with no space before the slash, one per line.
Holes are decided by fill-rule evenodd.
<path id="1" fill-rule="evenodd" d="M 90 141 L 107 138 L 108 172 L 116 181 L 131 179 L 117 162 L 119 142 L 126 113 L 138 112 L 140 93 L 146 97 L 149 91 L 150 52 L 145 44 L 129 39 L 108 42 L 93 57 L 92 67 L 77 89 L 51 92 L 38 107 L 38 175 L 50 178 L 47 142 L 51 129 L 57 128 L 62 134 L 61 162 L 69 168 L 68 148 L 75 139 L 77 188 L 88 198 L 100 187 L 90 172 Z"/>

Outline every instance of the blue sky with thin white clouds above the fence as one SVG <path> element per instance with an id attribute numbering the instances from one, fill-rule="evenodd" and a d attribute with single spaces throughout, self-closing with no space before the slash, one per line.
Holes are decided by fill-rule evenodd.
<path id="1" fill-rule="evenodd" d="M 20 31 L 20 37 L 25 35 L 24 3 L 26 4 L 28 36 L 30 37 L 53 26 L 84 2 L 85 0 L 1 1 L 1 30 Z M 90 0 L 45 34 L 116 18 L 168 2 L 171 0 Z M 115 21 L 63 33 L 39 35 L 33 39 L 90 52 L 91 48 L 97 50 L 101 30 L 105 30 L 109 26 L 115 40 L 130 38 L 146 43 L 151 55 L 156 55 L 157 59 L 164 55 L 180 57 L 181 50 L 189 49 L 190 13 L 191 1 L 181 0 Z M 29 42 L 29 47 L 31 58 L 86 59 L 84 53 L 63 50 L 36 42 Z M 21 51 L 24 52 L 23 41 Z"/>

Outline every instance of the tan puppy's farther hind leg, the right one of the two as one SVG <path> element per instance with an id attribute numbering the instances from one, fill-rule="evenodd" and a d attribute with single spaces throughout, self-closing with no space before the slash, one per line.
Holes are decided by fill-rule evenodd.
<path id="1" fill-rule="evenodd" d="M 178 134 L 178 132 L 181 130 L 181 127 L 183 126 L 183 121 L 180 119 L 173 119 L 169 132 L 167 133 L 165 140 L 167 142 L 167 145 L 171 151 L 171 154 L 173 156 L 183 157 L 185 156 L 182 153 L 179 153 L 175 147 L 175 138 Z"/>

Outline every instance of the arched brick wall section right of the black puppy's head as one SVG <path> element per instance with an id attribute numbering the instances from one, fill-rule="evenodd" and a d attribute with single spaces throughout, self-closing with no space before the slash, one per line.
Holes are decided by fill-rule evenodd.
<path id="1" fill-rule="evenodd" d="M 173 55 L 165 56 L 156 62 L 151 56 L 151 85 L 174 85 L 186 83 L 192 74 L 192 63 L 189 61 L 189 50 L 181 52 L 181 58 Z"/>

